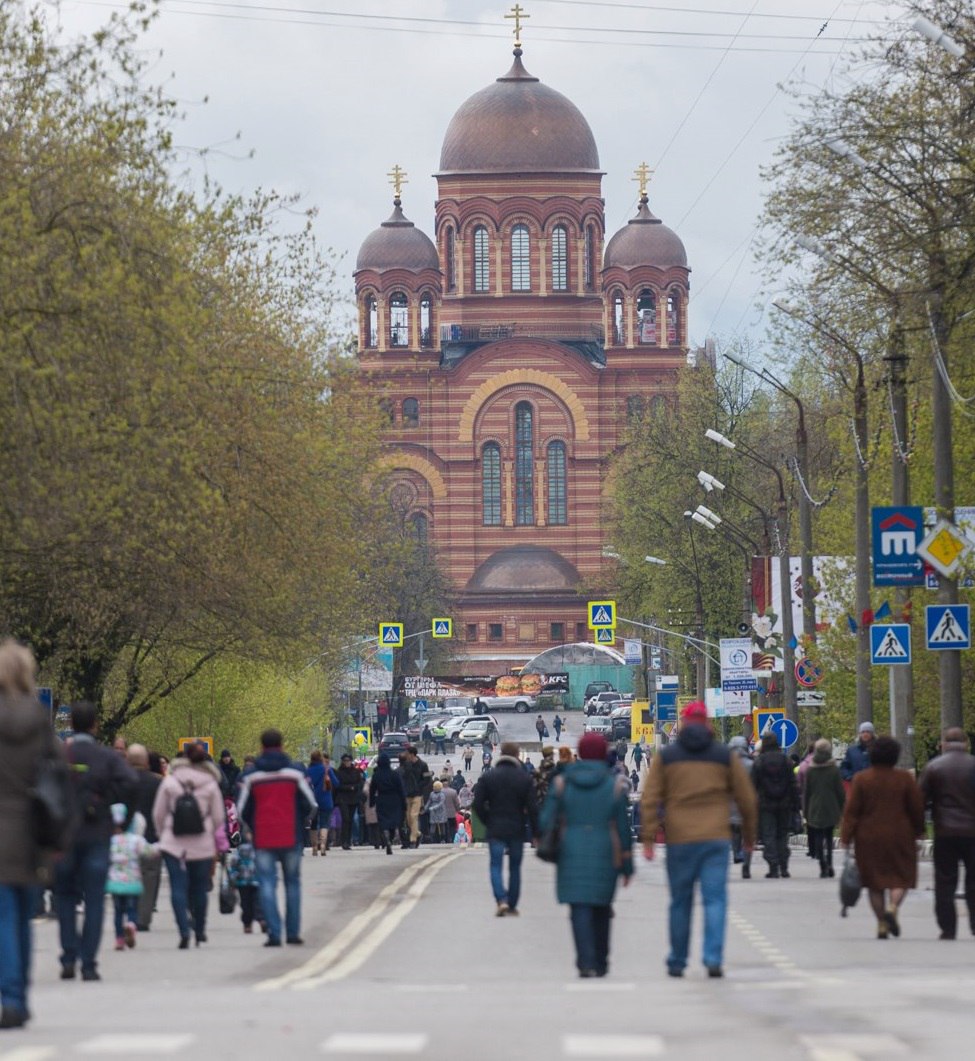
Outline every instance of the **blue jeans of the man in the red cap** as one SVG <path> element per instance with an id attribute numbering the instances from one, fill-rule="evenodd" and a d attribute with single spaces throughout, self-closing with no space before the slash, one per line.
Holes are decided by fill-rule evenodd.
<path id="1" fill-rule="evenodd" d="M 667 882 L 671 885 L 667 966 L 671 969 L 683 969 L 687 964 L 695 881 L 700 883 L 704 904 L 704 964 L 709 969 L 721 964 L 728 910 L 728 840 L 667 845 Z"/>

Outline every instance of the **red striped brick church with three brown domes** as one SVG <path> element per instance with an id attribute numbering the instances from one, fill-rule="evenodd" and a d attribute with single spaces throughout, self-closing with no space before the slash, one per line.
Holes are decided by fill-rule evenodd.
<path id="1" fill-rule="evenodd" d="M 384 463 L 455 589 L 456 673 L 592 640 L 608 457 L 687 354 L 686 255 L 647 172 L 607 239 L 592 129 L 516 42 L 448 126 L 434 238 L 404 215 L 397 169 L 359 251 L 359 359 L 389 412 Z"/>

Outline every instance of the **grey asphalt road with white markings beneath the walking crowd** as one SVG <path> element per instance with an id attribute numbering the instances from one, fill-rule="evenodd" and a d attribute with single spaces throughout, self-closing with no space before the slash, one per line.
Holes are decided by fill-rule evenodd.
<path id="1" fill-rule="evenodd" d="M 214 897 L 209 942 L 177 951 L 163 894 L 135 951 L 111 950 L 108 923 L 102 982 L 62 982 L 56 926 L 38 924 L 34 1020 L 0 1032 L 0 1059 L 969 1057 L 975 940 L 937 939 L 929 864 L 888 941 L 866 899 L 841 919 L 836 882 L 801 853 L 793 870 L 733 871 L 726 978 L 698 963 L 698 917 L 674 980 L 663 858 L 639 859 L 609 976 L 580 980 L 553 869 L 530 853 L 522 916 L 499 919 L 483 848 L 333 851 L 302 863 L 303 947 L 263 949 Z"/>

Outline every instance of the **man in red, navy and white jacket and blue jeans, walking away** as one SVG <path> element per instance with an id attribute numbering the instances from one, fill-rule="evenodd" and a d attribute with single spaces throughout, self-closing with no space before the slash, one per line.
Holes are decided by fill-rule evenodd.
<path id="1" fill-rule="evenodd" d="M 301 939 L 301 849 L 304 820 L 317 811 L 304 771 L 284 754 L 276 729 L 261 734 L 261 754 L 254 770 L 241 777 L 238 813 L 254 835 L 261 906 L 267 924 L 264 946 L 281 945 L 278 909 L 278 863 L 284 877 L 284 930 L 289 943 Z"/>

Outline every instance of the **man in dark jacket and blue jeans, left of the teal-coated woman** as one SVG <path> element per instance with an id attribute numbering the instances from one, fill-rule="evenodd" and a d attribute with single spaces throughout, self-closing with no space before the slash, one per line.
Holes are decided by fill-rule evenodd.
<path id="1" fill-rule="evenodd" d="M 498 763 L 474 788 L 474 811 L 484 822 L 490 850 L 491 889 L 498 917 L 517 916 L 521 895 L 521 859 L 525 830 L 538 836 L 535 785 L 521 766 L 521 748 L 501 746 Z M 508 886 L 504 885 L 504 856 L 508 856 Z"/>

